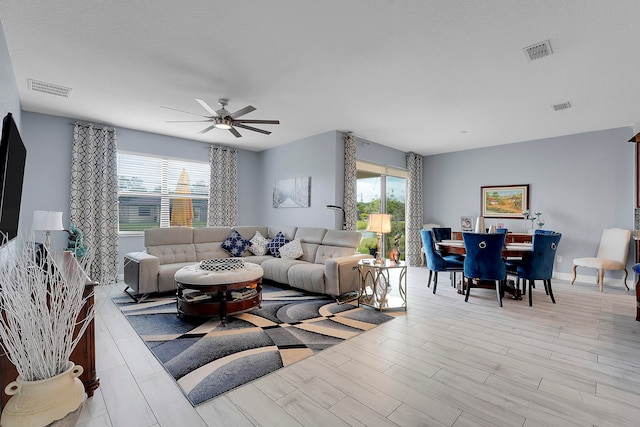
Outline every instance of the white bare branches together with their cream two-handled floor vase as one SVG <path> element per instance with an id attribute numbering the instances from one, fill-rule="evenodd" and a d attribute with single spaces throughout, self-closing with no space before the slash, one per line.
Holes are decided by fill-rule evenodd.
<path id="1" fill-rule="evenodd" d="M 19 241 L 0 259 L 0 342 L 18 372 L 5 392 L 0 424 L 46 426 L 84 402 L 83 368 L 70 359 L 93 318 L 93 307 L 79 318 L 90 298 L 83 295 L 91 257 L 79 264 L 71 252 L 54 256 Z"/>

